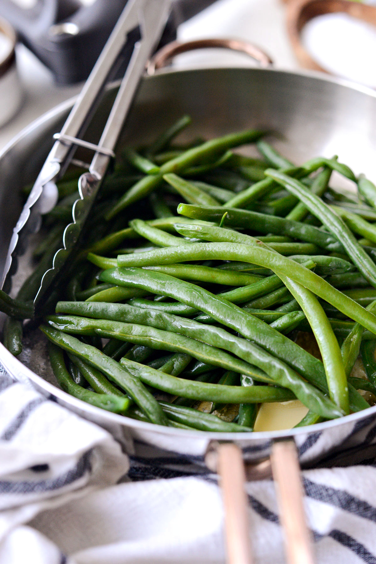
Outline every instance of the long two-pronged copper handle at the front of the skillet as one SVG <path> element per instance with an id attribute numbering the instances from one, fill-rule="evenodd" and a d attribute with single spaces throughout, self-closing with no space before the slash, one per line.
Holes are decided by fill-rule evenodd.
<path id="1" fill-rule="evenodd" d="M 288 564 L 314 564 L 312 540 L 303 508 L 303 487 L 297 447 L 294 440 L 272 445 L 270 460 L 244 465 L 241 449 L 234 443 L 213 441 L 205 457 L 206 465 L 220 478 L 225 512 L 228 564 L 252 564 L 247 515 L 246 479 L 275 480 L 281 525 Z"/>

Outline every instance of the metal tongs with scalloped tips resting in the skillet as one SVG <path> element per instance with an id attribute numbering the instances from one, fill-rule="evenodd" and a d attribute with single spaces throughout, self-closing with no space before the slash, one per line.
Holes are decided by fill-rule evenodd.
<path id="1" fill-rule="evenodd" d="M 35 233 L 41 226 L 41 215 L 48 213 L 57 202 L 56 181 L 63 177 L 77 146 L 94 151 L 89 171 L 78 180 L 80 199 L 73 205 L 73 222 L 65 228 L 64 247 L 54 257 L 53 266 L 43 276 L 41 287 L 34 300 L 36 309 L 44 303 L 49 290 L 59 280 L 59 273 L 78 240 L 92 204 L 98 193 L 101 180 L 107 171 L 109 162 L 114 157 L 113 149 L 121 133 L 123 123 L 129 111 L 132 99 L 145 64 L 160 39 L 169 16 L 171 0 L 129 0 L 107 43 L 94 65 L 81 94 L 65 121 L 60 133 L 54 135 L 56 142 L 48 155 L 41 172 L 30 192 L 28 200 L 14 228 L 1 281 L 1 287 L 10 282 L 10 276 L 16 271 L 17 257 L 23 254 L 30 233 Z M 122 79 L 113 107 L 98 145 L 81 139 L 96 109 L 96 104 L 104 91 L 105 83 L 111 72 L 121 60 L 127 34 L 139 28 L 140 39 L 135 43 L 129 65 Z"/>

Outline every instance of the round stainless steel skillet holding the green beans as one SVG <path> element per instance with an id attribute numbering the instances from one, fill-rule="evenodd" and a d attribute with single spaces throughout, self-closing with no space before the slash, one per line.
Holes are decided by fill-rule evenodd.
<path id="1" fill-rule="evenodd" d="M 92 122 L 96 125 L 87 131 L 87 140 L 95 142 L 96 127 L 100 130 L 115 91 L 116 85 L 108 90 L 97 119 Z M 36 178 L 52 146 L 52 135 L 59 131 L 72 105 L 70 100 L 39 118 L 0 155 L 0 271 L 21 209 L 19 191 Z M 183 113 L 192 116 L 189 135 L 210 137 L 245 127 L 272 129 L 281 134 L 276 143 L 278 148 L 293 161 L 302 162 L 319 154 L 328 157 L 338 154 L 355 173 L 376 177 L 376 94 L 364 87 L 312 73 L 273 69 L 165 69 L 142 81 L 122 140 L 132 144 L 151 140 Z M 24 274 L 27 268 L 25 262 Z M 251 465 L 261 462 L 254 470 L 261 473 L 263 468 L 267 470 L 272 451 L 291 444 L 281 443 L 281 439 L 293 439 L 300 461 L 307 463 L 339 451 L 343 439 L 350 435 L 351 446 L 356 447 L 376 421 L 376 407 L 373 407 L 342 420 L 271 433 L 202 433 L 145 424 L 91 407 L 57 388 L 46 361 L 45 343 L 35 337 L 36 334 L 26 336 L 25 350 L 19 359 L 0 344 L 0 362 L 5 368 L 17 378 L 29 378 L 46 396 L 53 396 L 65 407 L 109 429 L 144 458 L 148 456 L 147 445 L 152 445 L 165 453 L 166 460 L 179 458 L 196 465 L 204 465 L 206 460 L 211 465 L 213 441 L 227 441 L 241 449 L 249 472 Z M 359 429 L 364 429 L 364 433 L 355 434 Z M 309 449 L 309 459 L 307 445 L 314 445 Z M 236 452 L 231 453 L 233 462 Z M 240 560 L 234 562 L 238 564 Z"/>

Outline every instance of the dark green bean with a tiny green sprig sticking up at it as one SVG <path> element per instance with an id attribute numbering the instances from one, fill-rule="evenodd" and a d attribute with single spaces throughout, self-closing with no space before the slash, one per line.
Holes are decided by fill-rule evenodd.
<path id="1" fill-rule="evenodd" d="M 295 239 L 313 243 L 326 250 L 342 251 L 343 247 L 331 233 L 322 231 L 306 223 L 291 221 L 275 215 L 266 215 L 258 211 L 231 209 L 224 206 L 193 206 L 191 204 L 179 204 L 178 213 L 189 218 L 209 219 L 219 222 L 224 212 L 227 211 L 226 224 L 231 227 L 251 226 L 254 231 L 261 233 L 274 233 L 275 235 L 287 235 Z M 179 222 L 175 222 L 179 223 Z"/>

